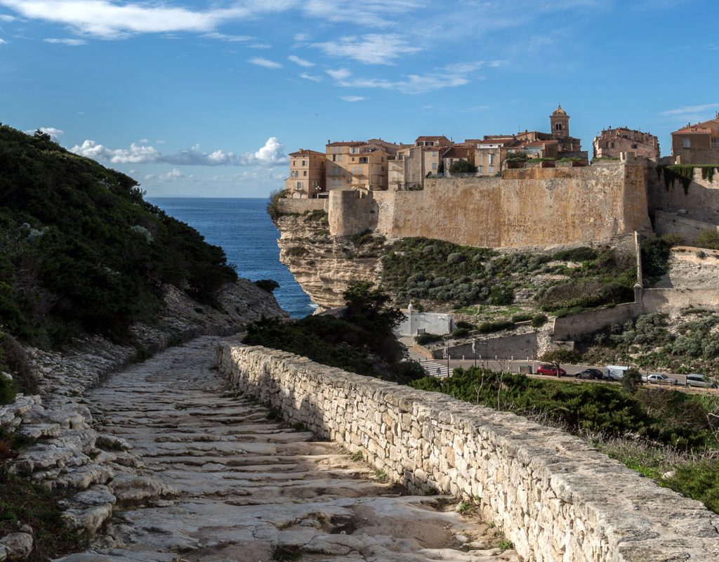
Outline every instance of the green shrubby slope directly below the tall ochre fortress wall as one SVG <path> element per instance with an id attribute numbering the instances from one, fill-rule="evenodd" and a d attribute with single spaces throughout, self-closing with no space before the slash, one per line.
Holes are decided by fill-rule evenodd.
<path id="1" fill-rule="evenodd" d="M 500 255 L 417 237 L 394 243 L 382 265 L 383 288 L 398 302 L 432 309 L 521 302 L 563 316 L 631 301 L 636 283 L 634 256 L 615 248 Z"/>

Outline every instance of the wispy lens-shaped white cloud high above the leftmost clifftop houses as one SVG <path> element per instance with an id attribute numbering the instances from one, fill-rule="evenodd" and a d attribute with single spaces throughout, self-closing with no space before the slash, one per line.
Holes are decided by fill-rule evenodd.
<path id="1" fill-rule="evenodd" d="M 361 37 L 340 37 L 339 40 L 313 43 L 326 55 L 332 57 L 353 58 L 365 64 L 392 65 L 402 55 L 413 55 L 422 47 L 409 45 L 400 35 L 380 35 L 372 33 Z"/>

